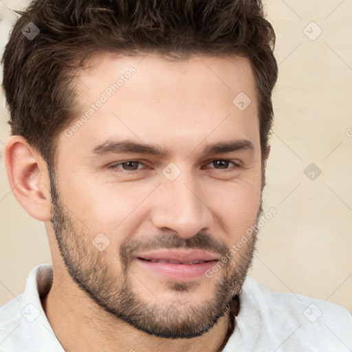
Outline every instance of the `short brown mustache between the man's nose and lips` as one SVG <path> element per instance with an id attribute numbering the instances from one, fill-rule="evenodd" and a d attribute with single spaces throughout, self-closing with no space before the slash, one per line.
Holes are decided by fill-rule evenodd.
<path id="1" fill-rule="evenodd" d="M 139 252 L 148 250 L 173 250 L 177 248 L 188 248 L 194 250 L 205 250 L 219 254 L 221 257 L 229 252 L 228 245 L 206 232 L 197 232 L 192 237 L 184 239 L 177 234 L 158 233 L 153 237 L 142 239 L 131 239 L 120 248 L 120 259 L 127 264 L 133 256 Z"/>

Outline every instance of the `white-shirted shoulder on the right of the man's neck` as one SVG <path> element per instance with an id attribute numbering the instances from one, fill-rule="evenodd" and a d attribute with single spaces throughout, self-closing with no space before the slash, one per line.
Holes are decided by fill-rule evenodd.
<path id="1" fill-rule="evenodd" d="M 294 293 L 275 293 L 247 277 L 241 292 L 242 308 L 242 329 L 256 317 L 256 338 L 275 351 L 352 349 L 352 316 L 340 305 Z"/>

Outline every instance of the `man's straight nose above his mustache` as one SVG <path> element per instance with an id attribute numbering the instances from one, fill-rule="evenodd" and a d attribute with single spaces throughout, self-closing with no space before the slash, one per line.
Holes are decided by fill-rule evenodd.
<path id="1" fill-rule="evenodd" d="M 152 222 L 162 232 L 185 239 L 212 227 L 214 215 L 199 181 L 181 173 L 174 181 L 162 177 L 154 195 Z"/>

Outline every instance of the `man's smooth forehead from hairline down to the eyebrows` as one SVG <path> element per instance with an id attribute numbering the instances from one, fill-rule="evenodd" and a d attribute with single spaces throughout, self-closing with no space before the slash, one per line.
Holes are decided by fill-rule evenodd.
<path id="1" fill-rule="evenodd" d="M 114 137 L 166 148 L 177 140 L 184 149 L 235 137 L 259 143 L 248 58 L 99 54 L 78 72 L 76 91 L 81 114 L 68 126 L 72 136 L 59 143 L 77 150 Z"/>

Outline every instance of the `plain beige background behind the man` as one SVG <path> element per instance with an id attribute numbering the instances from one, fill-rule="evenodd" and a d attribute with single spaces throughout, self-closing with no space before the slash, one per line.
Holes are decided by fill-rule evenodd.
<path id="1" fill-rule="evenodd" d="M 8 8 L 26 3 L 0 2 L 1 54 L 16 20 Z M 261 230 L 250 275 L 274 291 L 352 311 L 352 1 L 264 3 L 280 70 L 264 209 L 277 214 Z M 1 100 L 0 305 L 23 292 L 34 265 L 50 262 L 43 223 L 19 206 L 8 185 Z M 314 181 L 304 173 L 312 162 L 322 170 Z"/>

